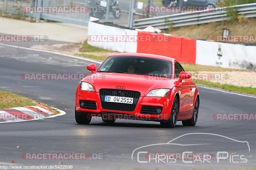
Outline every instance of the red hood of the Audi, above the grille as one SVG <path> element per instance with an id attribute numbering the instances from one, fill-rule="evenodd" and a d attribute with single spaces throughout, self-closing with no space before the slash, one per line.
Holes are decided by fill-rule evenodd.
<path id="1" fill-rule="evenodd" d="M 123 73 L 93 73 L 83 80 L 92 84 L 96 92 L 100 89 L 117 89 L 116 86 L 125 86 L 125 90 L 139 91 L 146 96 L 153 89 L 172 89 L 177 79 L 164 77 L 123 74 Z"/>

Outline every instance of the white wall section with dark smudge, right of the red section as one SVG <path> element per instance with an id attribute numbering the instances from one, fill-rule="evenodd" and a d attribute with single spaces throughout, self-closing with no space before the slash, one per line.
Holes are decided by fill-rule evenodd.
<path id="1" fill-rule="evenodd" d="M 196 40 L 196 64 L 256 69 L 256 46 Z"/>

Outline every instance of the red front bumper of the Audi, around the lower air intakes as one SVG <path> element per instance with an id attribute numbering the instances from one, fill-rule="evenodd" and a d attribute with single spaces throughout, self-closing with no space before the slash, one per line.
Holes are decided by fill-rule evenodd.
<path id="1" fill-rule="evenodd" d="M 95 101 L 97 109 L 84 109 L 80 107 L 80 100 Z M 142 106 L 157 106 L 162 107 L 161 114 L 143 114 L 140 113 Z M 115 118 L 134 119 L 134 120 L 148 120 L 148 121 L 161 121 L 168 120 L 171 113 L 172 100 L 170 94 L 167 97 L 148 97 L 140 96 L 134 111 L 118 111 L 106 110 L 101 107 L 100 95 L 98 92 L 90 92 L 78 90 L 76 95 L 76 112 L 80 114 L 91 114 L 92 116 L 102 115 L 116 115 Z"/>

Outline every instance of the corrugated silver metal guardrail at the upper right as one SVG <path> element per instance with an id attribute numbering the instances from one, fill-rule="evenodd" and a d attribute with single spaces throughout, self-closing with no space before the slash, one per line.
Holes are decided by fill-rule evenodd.
<path id="1" fill-rule="evenodd" d="M 160 17 L 143 18 L 133 20 L 133 28 L 143 29 L 148 25 L 158 29 L 166 29 L 170 27 L 180 27 L 195 24 L 204 24 L 216 21 L 228 20 L 227 8 L 237 8 L 239 15 L 246 18 L 256 17 L 256 3 L 234 5 L 222 8 L 214 8 L 197 12 L 184 12 Z"/>

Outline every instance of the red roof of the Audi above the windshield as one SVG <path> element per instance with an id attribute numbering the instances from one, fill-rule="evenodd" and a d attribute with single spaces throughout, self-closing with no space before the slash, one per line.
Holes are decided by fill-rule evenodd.
<path id="1" fill-rule="evenodd" d="M 156 55 L 156 54 L 146 54 L 146 53 L 114 53 L 114 54 L 109 55 L 109 57 L 110 56 L 137 56 L 137 57 L 149 57 L 149 58 L 168 60 L 168 61 L 172 61 L 172 62 L 177 61 L 171 57 L 166 57 L 163 55 Z"/>

